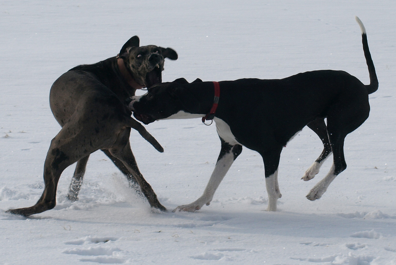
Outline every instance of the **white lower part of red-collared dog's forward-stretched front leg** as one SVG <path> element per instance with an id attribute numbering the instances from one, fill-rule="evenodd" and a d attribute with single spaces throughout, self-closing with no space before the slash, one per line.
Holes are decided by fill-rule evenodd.
<path id="1" fill-rule="evenodd" d="M 228 169 L 231 167 L 234 162 L 234 154 L 232 151 L 225 154 L 219 161 L 217 161 L 215 169 L 213 170 L 212 175 L 210 176 L 209 182 L 206 185 L 205 191 L 195 202 L 190 204 L 177 206 L 173 212 L 176 211 L 184 211 L 184 212 L 195 212 L 196 210 L 200 210 L 204 204 L 209 205 L 213 199 L 213 195 L 217 187 L 219 187 L 221 181 L 223 180 L 225 174 L 228 172 Z"/>

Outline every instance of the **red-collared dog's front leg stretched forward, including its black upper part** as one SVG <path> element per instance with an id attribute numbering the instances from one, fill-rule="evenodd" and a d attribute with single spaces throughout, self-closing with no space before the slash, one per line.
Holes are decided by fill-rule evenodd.
<path id="1" fill-rule="evenodd" d="M 206 185 L 205 191 L 195 202 L 190 204 L 178 206 L 173 212 L 183 211 L 183 212 L 195 212 L 200 210 L 204 204 L 209 205 L 213 199 L 213 195 L 217 187 L 219 187 L 221 181 L 223 180 L 225 174 L 230 169 L 234 160 L 242 152 L 242 145 L 230 145 L 230 143 L 225 142 L 221 137 L 221 151 L 219 158 L 217 158 L 217 163 L 212 175 L 210 176 L 209 182 Z"/>

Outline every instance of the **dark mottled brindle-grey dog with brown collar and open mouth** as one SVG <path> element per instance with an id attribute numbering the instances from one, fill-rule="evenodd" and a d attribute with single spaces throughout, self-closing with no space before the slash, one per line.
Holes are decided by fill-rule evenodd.
<path id="1" fill-rule="evenodd" d="M 171 48 L 154 45 L 139 47 L 133 36 L 117 57 L 93 65 L 80 65 L 61 75 L 52 85 L 49 104 L 61 131 L 52 139 L 44 163 L 44 192 L 28 208 L 8 210 L 11 214 L 31 215 L 52 209 L 56 203 L 59 177 L 77 162 L 68 198 L 77 200 L 89 155 L 101 149 L 127 176 L 138 183 L 150 206 L 166 210 L 151 186 L 139 172 L 129 144 L 131 128 L 158 151 L 164 149 L 145 128 L 131 118 L 127 100 L 140 88 L 162 81 L 164 58 L 177 59 Z"/>

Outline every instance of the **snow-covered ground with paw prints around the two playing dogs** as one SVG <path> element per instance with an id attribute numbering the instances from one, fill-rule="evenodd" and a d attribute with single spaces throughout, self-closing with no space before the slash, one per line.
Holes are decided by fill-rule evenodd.
<path id="1" fill-rule="evenodd" d="M 379 79 L 368 120 L 345 141 L 348 168 L 324 196 L 301 177 L 320 154 L 305 128 L 282 152 L 278 212 L 265 212 L 261 157 L 246 148 L 210 206 L 195 213 L 153 213 L 101 152 L 91 155 L 78 202 L 65 195 L 74 166 L 63 173 L 57 206 L 30 218 L 5 214 L 32 206 L 59 125 L 49 88 L 68 69 L 141 45 L 171 47 L 164 81 L 283 78 L 345 70 L 368 83 L 361 35 L 367 29 Z M 396 264 L 396 4 L 394 0 L 236 0 L 0 2 L 0 264 Z M 146 126 L 165 149 L 136 132 L 139 168 L 169 210 L 200 196 L 220 150 L 215 126 L 199 119 Z"/>

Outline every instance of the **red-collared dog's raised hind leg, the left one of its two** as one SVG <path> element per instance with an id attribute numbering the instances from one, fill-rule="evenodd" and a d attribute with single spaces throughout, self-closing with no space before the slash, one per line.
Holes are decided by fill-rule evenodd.
<path id="1" fill-rule="evenodd" d="M 329 142 L 329 137 L 327 135 L 327 127 L 324 119 L 317 118 L 312 122 L 308 123 L 307 126 L 319 136 L 323 143 L 323 151 L 320 156 L 312 163 L 312 165 L 308 168 L 308 170 L 304 173 L 303 179 L 304 181 L 308 181 L 313 179 L 316 174 L 319 173 L 320 167 L 323 162 L 327 159 L 329 154 L 331 154 L 331 147 Z"/>

